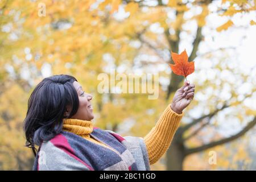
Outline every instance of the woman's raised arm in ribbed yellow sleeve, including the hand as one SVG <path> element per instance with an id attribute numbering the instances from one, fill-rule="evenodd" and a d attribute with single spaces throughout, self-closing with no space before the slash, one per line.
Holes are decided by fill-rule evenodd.
<path id="1" fill-rule="evenodd" d="M 172 103 L 166 107 L 156 125 L 143 138 L 150 164 L 156 163 L 167 151 L 184 115 L 183 109 L 193 100 L 195 85 L 185 82 L 177 90 Z"/>

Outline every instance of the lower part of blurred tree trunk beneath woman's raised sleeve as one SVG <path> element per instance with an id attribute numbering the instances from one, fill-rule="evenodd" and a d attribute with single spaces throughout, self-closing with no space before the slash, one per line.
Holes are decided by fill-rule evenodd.
<path id="1" fill-rule="evenodd" d="M 185 148 L 181 140 L 180 129 L 177 130 L 171 146 L 167 150 L 167 171 L 182 171 L 185 158 Z"/>

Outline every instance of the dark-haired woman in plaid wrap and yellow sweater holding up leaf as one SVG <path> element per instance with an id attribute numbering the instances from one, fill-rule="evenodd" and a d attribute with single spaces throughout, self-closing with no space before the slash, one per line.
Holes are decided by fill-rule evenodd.
<path id="1" fill-rule="evenodd" d="M 76 78 L 44 78 L 28 100 L 24 119 L 26 146 L 36 156 L 33 169 L 150 170 L 170 146 L 194 92 L 195 85 L 185 82 L 144 138 L 121 137 L 93 127 L 93 97 Z"/>

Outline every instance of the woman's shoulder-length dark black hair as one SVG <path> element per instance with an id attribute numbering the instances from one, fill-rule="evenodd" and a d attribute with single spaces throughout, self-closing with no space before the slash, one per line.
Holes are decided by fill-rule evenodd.
<path id="1" fill-rule="evenodd" d="M 50 140 L 59 134 L 63 126 L 63 118 L 67 106 L 76 114 L 79 108 L 79 97 L 73 82 L 75 77 L 55 75 L 44 78 L 33 90 L 29 100 L 27 115 L 24 119 L 26 146 L 32 148 L 36 155 L 36 146 L 43 140 Z"/>

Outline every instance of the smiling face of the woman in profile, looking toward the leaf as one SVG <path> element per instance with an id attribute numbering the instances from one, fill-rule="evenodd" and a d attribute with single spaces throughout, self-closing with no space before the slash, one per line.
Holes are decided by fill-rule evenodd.
<path id="1" fill-rule="evenodd" d="M 73 119 L 82 119 L 90 121 L 94 118 L 93 107 L 90 101 L 92 100 L 92 95 L 85 93 L 82 90 L 82 86 L 79 82 L 74 81 L 73 86 L 75 87 L 77 94 L 79 96 L 79 109 L 76 114 L 72 116 Z"/>

